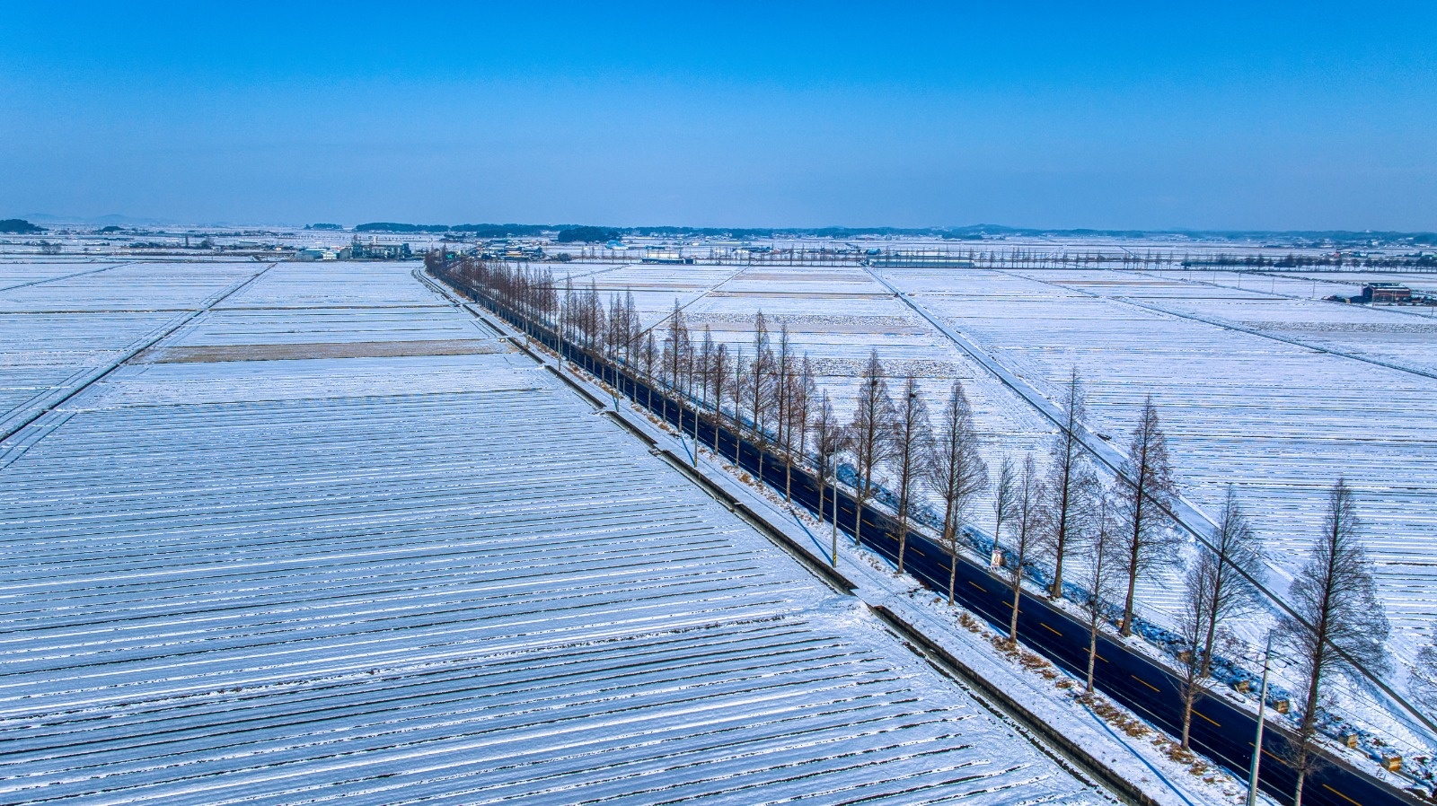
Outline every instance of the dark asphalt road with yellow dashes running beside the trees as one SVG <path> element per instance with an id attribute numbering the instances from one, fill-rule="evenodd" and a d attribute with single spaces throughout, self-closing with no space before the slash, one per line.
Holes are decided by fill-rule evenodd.
<path id="1" fill-rule="evenodd" d="M 497 312 L 503 315 L 504 312 Z M 509 318 L 509 316 L 506 316 Z M 512 318 L 509 318 L 512 319 Z M 533 332 L 536 338 L 546 341 L 549 346 L 556 346 L 547 333 Z M 694 432 L 694 415 L 687 407 L 680 407 L 665 398 L 658 389 L 648 389 L 634 381 L 627 374 L 621 375 L 614 368 L 601 365 L 581 351 L 568 352 L 569 359 L 583 365 L 593 375 L 602 376 L 614 386 L 622 388 L 638 402 L 651 408 L 655 415 L 678 425 L 683 432 Z M 760 460 L 763 465 L 763 481 L 775 490 L 783 491 L 787 478 L 782 460 L 763 453 L 747 438 L 736 438 L 726 427 L 714 428 L 708 421 L 700 420 L 698 438 L 720 455 L 733 458 L 737 450 L 737 464 L 749 473 L 759 476 Z M 793 501 L 818 513 L 819 493 L 813 477 L 798 467 L 792 468 Z M 839 529 L 852 539 L 855 501 L 848 494 L 839 491 L 838 516 Z M 833 517 L 832 487 L 828 488 L 825 520 Z M 864 507 L 862 542 L 890 560 L 897 560 L 898 540 L 897 524 L 884 513 L 872 507 Z M 931 589 L 947 595 L 950 555 L 934 540 L 917 533 L 908 533 L 908 553 L 905 556 L 905 570 Z M 1009 618 L 1013 608 L 1012 592 L 1007 582 L 992 575 L 986 566 L 957 556 L 957 583 L 954 598 L 964 608 L 984 618 L 1000 634 L 1007 632 Z M 1086 624 L 1053 608 L 1043 598 L 1023 595 L 1019 602 L 1019 639 L 1029 649 L 1043 655 L 1053 664 L 1078 675 L 1086 677 L 1088 670 L 1088 626 Z M 1127 708 L 1144 715 L 1150 723 L 1160 727 L 1170 736 L 1180 736 L 1183 730 L 1183 707 L 1177 680 L 1161 665 L 1145 655 L 1132 651 L 1106 635 L 1098 639 L 1098 662 L 1094 671 L 1094 684 L 1105 695 L 1117 700 Z M 1196 714 L 1191 727 L 1193 747 L 1224 766 L 1239 780 L 1247 780 L 1247 770 L 1252 764 L 1253 734 L 1256 733 L 1256 718 L 1242 711 L 1221 697 L 1200 695 L 1196 701 Z M 1279 803 L 1292 803 L 1293 784 L 1296 776 L 1283 761 L 1289 749 L 1285 731 L 1269 721 L 1263 731 L 1263 763 L 1260 773 L 1260 787 Z M 1372 776 L 1364 774 L 1346 763 L 1329 759 L 1318 769 L 1309 772 L 1303 787 L 1303 803 L 1311 806 L 1398 806 L 1421 803 L 1410 793 L 1397 790 Z"/>

